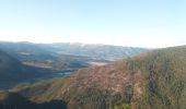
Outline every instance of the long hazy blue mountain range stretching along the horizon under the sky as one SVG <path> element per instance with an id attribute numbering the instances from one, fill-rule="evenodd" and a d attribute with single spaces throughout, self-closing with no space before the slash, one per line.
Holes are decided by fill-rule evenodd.
<path id="1" fill-rule="evenodd" d="M 0 48 L 10 53 L 15 53 L 19 59 L 25 60 L 26 57 L 47 60 L 49 58 L 79 56 L 96 60 L 117 60 L 126 59 L 148 51 L 144 48 L 121 47 L 109 45 L 84 45 L 84 44 L 32 44 L 32 43 L 0 43 Z"/>

